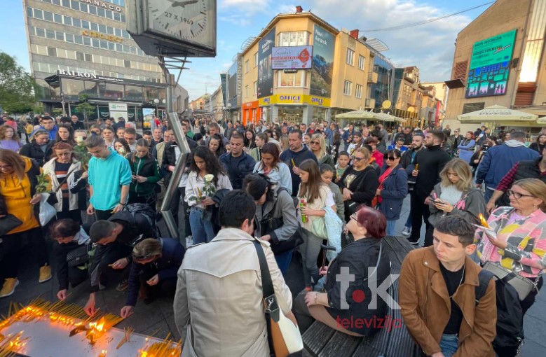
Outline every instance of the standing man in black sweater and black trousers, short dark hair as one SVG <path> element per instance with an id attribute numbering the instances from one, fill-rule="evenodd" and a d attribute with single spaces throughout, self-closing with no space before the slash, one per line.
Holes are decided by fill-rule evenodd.
<path id="1" fill-rule="evenodd" d="M 432 130 L 425 136 L 426 150 L 420 151 L 415 158 L 416 168 L 411 172 L 411 176 L 416 178 L 414 195 L 411 195 L 411 235 L 409 241 L 414 246 L 418 245 L 421 235 L 422 219 L 425 220 L 427 229 L 430 228 L 428 217 L 428 197 L 434 186 L 440 181 L 440 172 L 444 169 L 446 163 L 451 160 L 449 154 L 442 147 L 445 135 L 440 130 Z M 418 165 L 418 167 L 417 167 Z M 432 245 L 432 241 L 425 241 L 425 246 Z"/>

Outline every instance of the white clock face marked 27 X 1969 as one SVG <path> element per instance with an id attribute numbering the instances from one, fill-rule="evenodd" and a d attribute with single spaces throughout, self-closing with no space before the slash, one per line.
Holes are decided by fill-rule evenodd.
<path id="1" fill-rule="evenodd" d="M 209 3 L 209 0 L 149 0 L 149 25 L 171 37 L 198 41 L 207 32 Z"/>

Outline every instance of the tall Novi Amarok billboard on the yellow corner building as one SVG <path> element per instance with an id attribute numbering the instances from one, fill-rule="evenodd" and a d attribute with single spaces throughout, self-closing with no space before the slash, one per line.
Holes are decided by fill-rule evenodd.
<path id="1" fill-rule="evenodd" d="M 322 27 L 313 29 L 313 69 L 311 69 L 310 94 L 330 97 L 332 94 L 332 69 L 336 38 Z"/>

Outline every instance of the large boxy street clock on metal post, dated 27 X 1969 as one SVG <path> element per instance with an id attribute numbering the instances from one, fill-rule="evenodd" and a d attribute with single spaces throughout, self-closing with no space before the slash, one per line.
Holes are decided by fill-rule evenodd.
<path id="1" fill-rule="evenodd" d="M 216 0 L 130 0 L 127 25 L 148 55 L 216 55 Z"/>

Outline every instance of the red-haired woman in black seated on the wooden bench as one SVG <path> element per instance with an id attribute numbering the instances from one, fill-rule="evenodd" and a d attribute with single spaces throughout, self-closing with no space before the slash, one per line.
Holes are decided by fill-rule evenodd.
<path id="1" fill-rule="evenodd" d="M 320 274 L 326 276 L 320 279 L 315 291 L 303 290 L 294 300 L 301 333 L 315 320 L 351 336 L 371 336 L 378 331 L 373 323 L 366 321 L 373 321 L 374 315 L 385 316 L 387 304 L 378 298 L 376 308 L 368 308 L 373 296 L 368 280 L 376 279 L 379 286 L 390 275 L 390 260 L 385 248 L 381 248 L 386 228 L 385 216 L 370 207 L 362 207 L 350 216 L 347 229 L 353 243 L 345 246 L 329 267 L 322 267 Z M 352 276 L 343 279 L 343 274 Z M 348 287 L 341 281 L 349 281 Z"/>

